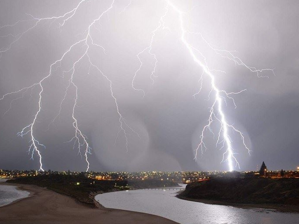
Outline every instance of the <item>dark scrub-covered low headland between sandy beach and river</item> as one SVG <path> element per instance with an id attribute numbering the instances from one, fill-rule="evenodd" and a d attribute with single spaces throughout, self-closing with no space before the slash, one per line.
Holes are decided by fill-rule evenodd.
<path id="1" fill-rule="evenodd" d="M 98 193 L 176 185 L 170 181 L 144 180 L 128 183 L 127 181 L 96 180 L 85 177 L 84 175 L 74 176 L 62 174 L 21 177 L 8 180 L 7 182 L 46 187 L 57 193 L 71 196 L 77 202 L 91 207 L 98 206 L 98 203 L 94 200 L 94 196 Z"/>

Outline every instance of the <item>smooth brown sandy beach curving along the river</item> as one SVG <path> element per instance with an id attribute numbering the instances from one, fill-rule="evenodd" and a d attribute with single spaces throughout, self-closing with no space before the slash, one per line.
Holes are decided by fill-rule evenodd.
<path id="1" fill-rule="evenodd" d="M 5 183 L 6 185 L 6 183 Z M 18 186 L 30 196 L 0 207 L 1 224 L 6 223 L 105 223 L 175 224 L 163 217 L 118 209 L 89 208 L 71 197 L 33 185 Z"/>

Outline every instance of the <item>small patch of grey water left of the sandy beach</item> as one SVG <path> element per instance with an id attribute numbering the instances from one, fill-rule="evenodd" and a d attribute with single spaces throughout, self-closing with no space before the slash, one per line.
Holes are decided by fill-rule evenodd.
<path id="1" fill-rule="evenodd" d="M 0 182 L 5 182 L 5 179 L 0 179 Z M 16 200 L 26 198 L 29 196 L 28 191 L 21 191 L 15 186 L 0 185 L 0 207 L 8 205 Z M 1 218 L 0 218 L 1 220 Z"/>

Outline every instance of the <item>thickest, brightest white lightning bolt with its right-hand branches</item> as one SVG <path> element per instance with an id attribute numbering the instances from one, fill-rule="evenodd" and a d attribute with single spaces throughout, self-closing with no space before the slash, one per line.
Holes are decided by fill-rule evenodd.
<path id="1" fill-rule="evenodd" d="M 168 8 L 169 6 L 178 14 L 178 19 L 179 19 L 179 27 L 180 27 L 180 31 L 181 31 L 181 42 L 184 44 L 184 46 L 187 48 L 188 53 L 190 54 L 190 57 L 194 60 L 194 62 L 199 65 L 200 68 L 202 68 L 202 74 L 200 76 L 199 82 L 200 82 L 200 88 L 199 91 L 194 94 L 193 96 L 195 97 L 197 94 L 199 94 L 199 92 L 202 89 L 202 81 L 203 81 L 203 75 L 206 74 L 208 75 L 208 77 L 210 78 L 210 84 L 211 84 L 211 91 L 209 93 L 209 98 L 210 98 L 210 94 L 211 92 L 214 93 L 215 95 L 215 100 L 212 104 L 212 106 L 210 107 L 210 111 L 209 111 L 209 118 L 208 118 L 208 124 L 206 124 L 201 132 L 200 135 L 200 142 L 197 146 L 197 148 L 195 149 L 195 157 L 194 159 L 196 160 L 197 158 L 197 153 L 198 150 L 201 150 L 201 153 L 203 154 L 203 150 L 207 150 L 205 141 L 204 141 L 204 134 L 205 132 L 208 130 L 210 132 L 213 133 L 213 130 L 211 129 L 211 124 L 214 121 L 218 121 L 220 123 L 220 130 L 218 133 L 218 139 L 216 142 L 216 146 L 219 143 L 222 143 L 222 148 L 226 148 L 225 152 L 223 153 L 223 157 L 222 157 L 222 162 L 226 161 L 228 163 L 228 168 L 230 171 L 234 170 L 234 165 L 233 163 L 235 162 L 235 166 L 239 166 L 239 162 L 237 161 L 236 157 L 234 156 L 234 149 L 232 147 L 232 140 L 231 137 L 229 135 L 229 129 L 233 130 L 234 132 L 237 132 L 241 139 L 242 139 L 242 143 L 243 146 L 245 147 L 245 149 L 248 151 L 248 154 L 250 155 L 250 150 L 247 147 L 247 145 L 245 144 L 245 139 L 244 139 L 244 135 L 241 131 L 239 131 L 237 128 L 235 128 L 233 125 L 228 124 L 226 117 L 225 117 L 225 113 L 223 112 L 223 102 L 226 103 L 226 98 L 230 99 L 233 101 L 233 104 L 235 106 L 235 108 L 237 107 L 235 104 L 235 101 L 233 99 L 233 97 L 231 97 L 231 95 L 234 94 L 239 94 L 242 93 L 244 91 L 246 91 L 246 89 L 243 89 L 239 92 L 226 92 L 225 90 L 220 90 L 217 85 L 216 85 L 216 80 L 215 80 L 215 76 L 213 75 L 212 71 L 215 70 L 211 70 L 208 68 L 208 64 L 206 61 L 206 58 L 204 57 L 204 55 L 202 54 L 202 52 L 195 48 L 194 46 L 192 46 L 186 39 L 186 34 L 197 34 L 200 35 L 200 37 L 202 38 L 202 40 L 208 45 L 208 47 L 210 47 L 217 55 L 224 57 L 228 60 L 233 61 L 236 65 L 242 65 L 245 68 L 249 69 L 249 71 L 251 72 L 255 72 L 257 74 L 258 77 L 265 77 L 263 75 L 261 75 L 261 73 L 263 71 L 271 71 L 274 74 L 274 70 L 270 69 L 270 68 L 266 68 L 266 69 L 257 69 L 251 66 L 246 65 L 239 57 L 234 56 L 234 51 L 227 51 L 227 50 L 219 50 L 215 47 L 213 47 L 213 45 L 211 45 L 210 43 L 208 43 L 205 38 L 202 36 L 201 33 L 192 33 L 190 31 L 188 31 L 185 27 L 184 27 L 184 12 L 182 12 L 175 4 L 173 4 L 171 1 L 167 0 L 167 6 L 166 8 Z M 199 60 L 199 57 L 196 56 L 196 53 L 198 53 L 202 58 L 203 61 Z M 218 70 L 216 70 L 218 71 Z M 221 71 L 224 72 L 224 71 Z M 224 72 L 225 73 L 225 72 Z M 274 74 L 275 75 L 275 74 Z M 226 97 L 226 98 L 225 98 Z M 215 113 L 215 111 L 217 113 Z M 222 137 L 222 141 L 220 141 L 220 138 Z"/>

